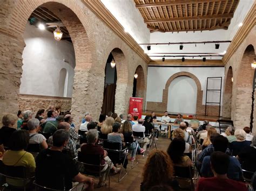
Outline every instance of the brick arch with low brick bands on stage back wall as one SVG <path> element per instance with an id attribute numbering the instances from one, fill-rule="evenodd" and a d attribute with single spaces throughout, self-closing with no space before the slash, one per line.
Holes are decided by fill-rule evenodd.
<path id="1" fill-rule="evenodd" d="M 196 114 L 205 115 L 205 105 L 203 105 L 203 90 L 201 90 L 201 83 L 198 78 L 189 73 L 189 72 L 178 72 L 173 74 L 166 82 L 165 89 L 163 89 L 163 98 L 162 102 L 147 102 L 147 110 L 152 111 L 166 111 L 167 110 L 167 102 L 168 102 L 168 92 L 169 86 L 171 82 L 179 76 L 188 76 L 191 77 L 194 82 L 197 84 L 197 105 L 196 105 Z M 209 116 L 218 116 L 219 115 L 219 107 L 215 105 L 207 105 L 206 115 Z"/>

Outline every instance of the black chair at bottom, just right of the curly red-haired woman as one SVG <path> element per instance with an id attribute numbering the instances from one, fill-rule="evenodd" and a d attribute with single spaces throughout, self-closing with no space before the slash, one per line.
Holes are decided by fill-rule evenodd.
<path id="1" fill-rule="evenodd" d="M 190 189 L 194 190 L 195 184 L 194 180 L 198 179 L 199 173 L 197 173 L 196 177 L 194 178 L 194 168 L 189 167 L 180 167 L 180 166 L 173 166 L 174 176 L 178 180 L 190 180 Z M 179 185 L 180 186 L 180 185 Z M 183 188 L 182 186 L 180 186 Z"/>

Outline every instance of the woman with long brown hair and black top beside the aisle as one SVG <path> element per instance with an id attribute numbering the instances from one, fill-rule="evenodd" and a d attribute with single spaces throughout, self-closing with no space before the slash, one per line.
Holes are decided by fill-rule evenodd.
<path id="1" fill-rule="evenodd" d="M 135 141 L 135 139 L 133 138 L 133 135 L 132 135 L 132 125 L 130 122 L 124 122 L 123 125 L 122 125 L 122 133 L 124 135 L 124 140 L 126 138 L 130 138 L 132 137 L 133 139 L 133 143 L 130 144 L 129 146 L 129 150 L 132 151 L 132 157 L 131 157 L 131 161 L 135 160 L 135 154 L 136 154 L 136 147 L 137 147 L 137 144 Z M 138 151 L 140 151 L 140 153 L 143 153 L 144 152 L 144 149 L 143 148 L 140 148 L 140 146 L 138 145 Z"/>

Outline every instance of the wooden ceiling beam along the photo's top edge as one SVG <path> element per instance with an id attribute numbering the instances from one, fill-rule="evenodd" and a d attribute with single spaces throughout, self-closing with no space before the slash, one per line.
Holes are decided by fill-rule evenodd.
<path id="1" fill-rule="evenodd" d="M 191 4 L 191 3 L 207 3 L 207 2 L 221 2 L 224 0 L 189 0 L 185 1 L 184 0 L 175 0 L 172 2 L 161 2 L 161 3 L 145 3 L 145 4 L 137 4 L 136 8 L 154 8 L 156 6 L 170 6 L 170 5 L 180 5 L 180 4 Z"/>

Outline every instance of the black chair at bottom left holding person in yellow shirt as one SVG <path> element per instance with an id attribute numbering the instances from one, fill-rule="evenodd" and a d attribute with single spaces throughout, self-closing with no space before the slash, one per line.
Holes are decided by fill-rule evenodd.
<path id="1" fill-rule="evenodd" d="M 26 177 L 26 168 L 24 166 L 9 166 L 4 165 L 3 162 L 0 162 L 1 172 L 0 175 L 3 176 L 5 180 L 4 186 L 7 185 L 8 190 L 26 190 L 29 187 L 29 182 L 32 181 L 35 177 L 32 176 L 30 178 Z M 17 187 L 14 185 L 10 185 L 8 183 L 8 179 L 21 181 L 23 185 L 21 187 Z"/>

